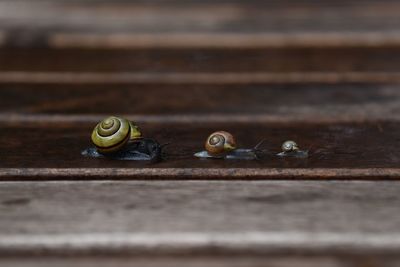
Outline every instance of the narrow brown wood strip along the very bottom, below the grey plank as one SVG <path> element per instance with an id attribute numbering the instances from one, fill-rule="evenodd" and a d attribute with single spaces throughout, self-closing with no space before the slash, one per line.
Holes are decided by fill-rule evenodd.
<path id="1" fill-rule="evenodd" d="M 0 258 L 0 264 L 7 267 L 106 267 L 106 266 L 147 266 L 147 267 L 396 267 L 399 260 L 392 257 L 331 257 L 331 256 L 195 256 L 195 257 L 8 257 Z"/>

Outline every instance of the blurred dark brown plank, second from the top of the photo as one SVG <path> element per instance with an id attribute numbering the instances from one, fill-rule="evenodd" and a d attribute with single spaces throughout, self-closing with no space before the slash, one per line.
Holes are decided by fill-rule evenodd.
<path id="1" fill-rule="evenodd" d="M 157 80 L 165 74 L 235 74 L 260 75 L 294 74 L 297 80 L 307 80 L 315 74 L 327 75 L 326 80 L 346 73 L 397 74 L 400 71 L 399 46 L 382 47 L 278 47 L 278 48 L 142 48 L 142 49 L 0 49 L 1 80 L 24 71 L 38 74 L 153 74 L 147 80 Z M 240 62 L 240 64 L 239 64 Z M 29 73 L 28 73 L 29 74 Z M 254 75 L 255 74 L 255 75 Z M 21 74 L 20 74 L 21 75 Z M 381 74 L 382 75 L 382 74 Z M 233 76 L 233 77 L 232 77 Z M 75 76 L 79 80 L 80 76 Z M 101 77 L 101 76 L 100 76 Z M 290 76 L 289 76 L 290 77 Z M 330 77 L 330 78 L 329 78 Z M 210 79 L 210 77 L 206 77 Z M 217 77 L 226 80 L 226 78 Z M 62 82 L 55 77 L 53 82 Z M 180 77 L 181 79 L 181 77 Z M 243 78 L 242 78 L 243 79 Z M 315 78 L 314 78 L 315 79 Z M 34 81 L 34 79 L 32 79 Z M 71 78 L 70 80 L 73 80 Z M 142 80 L 145 80 L 142 78 Z M 217 80 L 213 79 L 213 82 Z M 290 81 L 290 79 L 289 79 Z M 357 80 L 356 80 L 357 81 Z M 104 79 L 102 80 L 104 82 Z"/>

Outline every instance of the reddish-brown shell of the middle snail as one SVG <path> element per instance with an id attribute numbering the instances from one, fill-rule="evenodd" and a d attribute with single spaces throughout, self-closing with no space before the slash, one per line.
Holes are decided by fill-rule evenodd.
<path id="1" fill-rule="evenodd" d="M 236 149 L 236 142 L 232 134 L 218 131 L 207 138 L 205 147 L 209 154 L 219 155 Z"/>

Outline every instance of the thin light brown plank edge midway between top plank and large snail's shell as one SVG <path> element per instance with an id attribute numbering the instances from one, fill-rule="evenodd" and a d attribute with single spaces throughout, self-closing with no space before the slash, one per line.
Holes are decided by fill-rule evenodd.
<path id="1" fill-rule="evenodd" d="M 400 72 L 28 72 L 2 71 L 0 83 L 17 84 L 337 84 L 400 83 Z"/>

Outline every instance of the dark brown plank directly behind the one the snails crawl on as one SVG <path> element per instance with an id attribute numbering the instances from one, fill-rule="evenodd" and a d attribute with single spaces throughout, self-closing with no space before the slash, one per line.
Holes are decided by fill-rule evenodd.
<path id="1" fill-rule="evenodd" d="M 400 119 L 398 85 L 0 84 L 0 121 L 360 122 Z"/>

